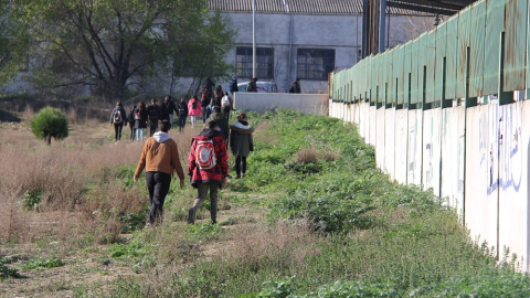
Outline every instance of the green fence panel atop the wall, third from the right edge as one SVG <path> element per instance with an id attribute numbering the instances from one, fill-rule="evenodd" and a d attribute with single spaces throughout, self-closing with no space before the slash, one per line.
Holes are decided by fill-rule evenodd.
<path id="1" fill-rule="evenodd" d="M 469 61 L 469 96 L 477 97 L 483 93 L 484 49 L 486 39 L 486 0 L 473 4 L 470 61 Z"/>

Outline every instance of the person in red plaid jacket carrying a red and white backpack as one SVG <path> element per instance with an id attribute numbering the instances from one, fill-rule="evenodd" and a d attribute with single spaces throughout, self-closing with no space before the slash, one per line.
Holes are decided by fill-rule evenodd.
<path id="1" fill-rule="evenodd" d="M 188 223 L 195 223 L 195 213 L 201 207 L 210 192 L 210 219 L 218 222 L 218 191 L 227 182 L 229 155 L 223 135 L 215 130 L 215 121 L 208 121 L 208 127 L 193 137 L 189 158 L 189 174 L 191 185 L 198 195 L 188 210 Z"/>

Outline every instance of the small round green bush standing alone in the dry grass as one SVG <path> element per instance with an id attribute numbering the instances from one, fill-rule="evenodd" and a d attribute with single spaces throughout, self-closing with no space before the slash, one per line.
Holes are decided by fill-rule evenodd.
<path id="1" fill-rule="evenodd" d="M 40 139 L 47 139 L 47 145 L 54 139 L 64 139 L 68 136 L 68 121 L 60 109 L 46 107 L 33 116 L 30 123 L 33 135 Z"/>

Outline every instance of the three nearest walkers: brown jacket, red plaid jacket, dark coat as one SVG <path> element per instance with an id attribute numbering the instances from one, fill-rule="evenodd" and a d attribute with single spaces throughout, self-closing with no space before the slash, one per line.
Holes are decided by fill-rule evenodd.
<path id="1" fill-rule="evenodd" d="M 230 134 L 221 126 L 224 116 L 216 107 L 213 117 L 206 119 L 206 127 L 192 138 L 188 158 L 188 174 L 198 194 L 188 210 L 188 223 L 195 222 L 195 213 L 209 196 L 211 223 L 218 222 L 218 193 L 227 183 L 229 151 L 227 143 L 235 157 L 236 179 L 245 177 L 246 158 L 254 150 L 252 134 L 254 128 L 248 125 L 245 113 L 237 115 L 237 121 L 229 128 Z M 162 221 L 163 203 L 171 184 L 171 175 L 177 173 L 180 188 L 184 187 L 184 171 L 180 163 L 177 142 L 168 134 L 171 125 L 168 120 L 158 124 L 158 131 L 148 138 L 144 145 L 140 159 L 136 167 L 134 181 L 146 171 L 146 184 L 149 191 L 150 210 L 146 226 L 159 224 Z M 227 142 L 230 135 L 230 142 Z"/>

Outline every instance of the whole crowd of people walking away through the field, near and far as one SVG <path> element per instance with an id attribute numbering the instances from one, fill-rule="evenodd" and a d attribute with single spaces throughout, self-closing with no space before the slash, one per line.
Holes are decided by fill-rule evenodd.
<path id="1" fill-rule="evenodd" d="M 134 181 L 138 182 L 141 172 L 146 171 L 146 184 L 150 201 L 146 226 L 152 226 L 162 221 L 163 203 L 173 173 L 178 175 L 180 187 L 184 187 L 184 171 L 180 163 L 179 149 L 177 142 L 168 134 L 173 120 L 169 116 L 173 110 L 179 117 L 179 129 L 183 129 L 188 116 L 190 116 L 193 127 L 197 125 L 197 117 L 200 116 L 205 124 L 204 129 L 192 138 L 188 158 L 190 182 L 198 192 L 193 204 L 188 210 L 188 223 L 195 222 L 195 213 L 206 198 L 210 199 L 211 222 L 212 224 L 218 222 L 218 193 L 227 183 L 229 177 L 227 148 L 235 157 L 236 179 L 245 177 L 246 158 L 254 150 L 252 137 L 254 128 L 250 126 L 245 113 L 239 114 L 237 120 L 233 125 L 229 125 L 233 102 L 229 93 L 223 92 L 221 86 L 218 86 L 215 91 L 213 91 L 213 82 L 206 78 L 203 84 L 202 100 L 192 96 L 188 103 L 181 99 L 178 106 L 171 107 L 169 96 L 162 103 L 157 103 L 153 98 L 148 107 L 140 102 L 127 117 L 125 117 L 126 113 L 121 103 L 118 102 L 110 115 L 110 124 L 114 124 L 116 128 L 117 141 L 119 141 L 118 132 L 120 132 L 124 121 L 131 124 L 130 140 L 132 140 L 132 134 L 136 134 L 137 141 L 141 140 L 144 129 L 149 128 L 150 137 L 144 145 L 134 174 Z M 115 121 L 116 117 L 123 117 L 121 121 Z M 135 132 L 132 132 L 132 128 Z M 139 132 L 140 130 L 141 132 Z"/>

